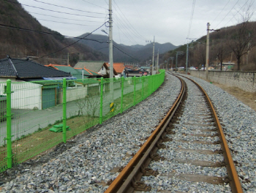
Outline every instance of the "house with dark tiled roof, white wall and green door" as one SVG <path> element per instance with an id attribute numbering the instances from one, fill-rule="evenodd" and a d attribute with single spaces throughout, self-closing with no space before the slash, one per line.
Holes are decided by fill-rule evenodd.
<path id="1" fill-rule="evenodd" d="M 10 79 L 12 108 L 41 110 L 53 107 L 61 103 L 61 82 L 64 77 L 67 80 L 76 79 L 67 72 L 45 67 L 29 59 L 7 57 L 0 60 L 0 95 L 4 95 L 6 83 L 3 82 Z"/>

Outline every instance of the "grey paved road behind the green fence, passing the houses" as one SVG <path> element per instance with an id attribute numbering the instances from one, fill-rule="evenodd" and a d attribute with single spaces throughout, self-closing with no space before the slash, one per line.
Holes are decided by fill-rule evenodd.
<path id="1" fill-rule="evenodd" d="M 142 83 L 136 83 L 136 91 L 140 90 Z M 127 85 L 124 89 L 124 94 L 133 92 L 134 86 Z M 114 99 L 121 97 L 121 88 L 114 90 Z M 93 99 L 89 99 L 99 104 L 99 96 Z M 110 93 L 106 92 L 103 96 L 103 116 L 109 113 L 110 110 Z M 86 104 L 87 106 L 87 104 Z M 99 106 L 99 105 L 98 105 Z M 67 118 L 70 116 L 78 115 L 78 105 L 75 102 L 67 102 Z M 48 124 L 54 124 L 57 120 L 63 118 L 62 105 L 50 107 L 45 110 L 19 110 L 12 109 L 12 140 L 15 140 L 22 135 L 29 135 L 39 128 L 45 128 Z M 99 110 L 96 112 L 96 116 L 99 116 Z M 4 138 L 6 137 L 6 121 L 0 123 L 0 145 L 4 144 Z"/>

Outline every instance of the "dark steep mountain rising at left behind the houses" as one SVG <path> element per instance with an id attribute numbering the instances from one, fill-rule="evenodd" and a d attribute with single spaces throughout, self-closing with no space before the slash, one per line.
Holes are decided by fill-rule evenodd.
<path id="1" fill-rule="evenodd" d="M 0 58 L 31 56 L 41 64 L 67 64 L 69 53 L 72 65 L 78 60 L 108 60 L 107 55 L 84 44 L 73 44 L 78 39 L 65 38 L 42 26 L 17 0 L 0 0 L 0 3 Z"/>

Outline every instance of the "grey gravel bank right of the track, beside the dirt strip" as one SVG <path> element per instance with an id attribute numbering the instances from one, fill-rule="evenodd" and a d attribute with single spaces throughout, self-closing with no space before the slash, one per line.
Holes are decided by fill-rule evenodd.
<path id="1" fill-rule="evenodd" d="M 221 88 L 197 77 L 206 91 L 225 132 L 244 192 L 256 192 L 256 112 Z"/>

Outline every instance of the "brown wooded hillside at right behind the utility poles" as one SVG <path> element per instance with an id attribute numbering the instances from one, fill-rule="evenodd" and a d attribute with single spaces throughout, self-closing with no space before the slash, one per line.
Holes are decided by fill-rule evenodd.
<path id="1" fill-rule="evenodd" d="M 256 70 L 256 22 L 245 20 L 236 26 L 222 28 L 210 33 L 209 66 L 217 67 L 222 62 L 233 62 L 235 70 Z M 192 47 L 192 48 L 191 48 Z M 178 67 L 185 67 L 187 45 L 165 53 L 163 60 L 178 56 Z M 169 62 L 171 64 L 171 61 Z M 206 64 L 206 36 L 189 43 L 189 67 L 203 67 Z"/>

